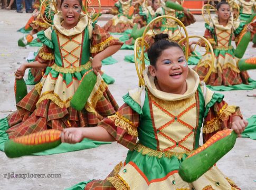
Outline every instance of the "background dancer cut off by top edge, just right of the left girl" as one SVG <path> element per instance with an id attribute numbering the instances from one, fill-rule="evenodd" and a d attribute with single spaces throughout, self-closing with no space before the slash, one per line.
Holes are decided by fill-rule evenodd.
<path id="1" fill-rule="evenodd" d="M 132 0 L 118 0 L 114 7 L 109 10 L 102 11 L 102 14 L 115 15 L 103 26 L 103 29 L 108 32 L 118 33 L 132 29 L 132 26 L 134 26 L 134 23 L 132 22 L 133 15 L 129 15 L 131 4 Z"/>

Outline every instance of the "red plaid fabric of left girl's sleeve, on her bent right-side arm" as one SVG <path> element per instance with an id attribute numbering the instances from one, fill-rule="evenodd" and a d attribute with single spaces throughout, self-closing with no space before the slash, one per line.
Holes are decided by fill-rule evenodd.
<path id="1" fill-rule="evenodd" d="M 97 24 L 94 26 L 93 31 L 92 31 L 92 42 L 91 46 L 96 46 L 97 44 L 104 43 L 111 35 L 107 32 L 107 30 L 102 29 L 100 26 Z M 109 41 L 108 45 L 102 45 L 104 50 L 108 48 L 111 45 L 117 45 L 117 44 L 123 44 L 121 41 L 118 39 L 112 39 Z M 97 52 L 99 53 L 99 52 Z M 91 53 L 92 57 L 94 57 L 97 53 Z"/>

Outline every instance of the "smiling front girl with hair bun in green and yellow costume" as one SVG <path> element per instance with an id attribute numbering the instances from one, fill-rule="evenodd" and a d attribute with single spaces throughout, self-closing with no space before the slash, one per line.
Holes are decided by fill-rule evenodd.
<path id="1" fill-rule="evenodd" d="M 155 39 L 148 50 L 145 86 L 130 90 L 123 97 L 124 105 L 98 127 L 64 129 L 63 142 L 77 143 L 86 137 L 118 141 L 129 149 L 124 164 L 118 164 L 106 179 L 83 182 L 79 187 L 240 189 L 216 166 L 192 183 L 179 176 L 179 166 L 199 146 L 201 129 L 205 141 L 224 128 L 240 134 L 247 122 L 239 107 L 227 105 L 222 94 L 201 86 L 197 73 L 188 68 L 181 46 L 167 40 L 167 34 Z"/>

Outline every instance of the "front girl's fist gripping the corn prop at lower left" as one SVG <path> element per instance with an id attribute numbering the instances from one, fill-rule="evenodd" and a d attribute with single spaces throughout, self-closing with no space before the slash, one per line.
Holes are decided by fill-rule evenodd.
<path id="1" fill-rule="evenodd" d="M 83 140 L 82 128 L 67 128 L 61 133 L 61 142 L 75 144 Z"/>

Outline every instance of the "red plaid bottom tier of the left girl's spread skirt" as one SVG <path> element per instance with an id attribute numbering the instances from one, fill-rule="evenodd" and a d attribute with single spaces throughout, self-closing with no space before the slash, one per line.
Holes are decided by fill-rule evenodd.
<path id="1" fill-rule="evenodd" d="M 46 129 L 62 130 L 67 127 L 97 126 L 99 121 L 118 110 L 118 105 L 107 89 L 96 105 L 99 112 L 77 111 L 71 107 L 60 108 L 51 100 L 44 100 L 36 107 L 39 94 L 35 89 L 17 103 L 17 111 L 8 116 L 9 138 L 28 135 Z"/>

